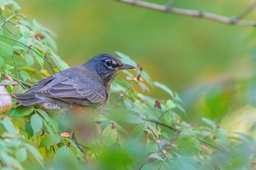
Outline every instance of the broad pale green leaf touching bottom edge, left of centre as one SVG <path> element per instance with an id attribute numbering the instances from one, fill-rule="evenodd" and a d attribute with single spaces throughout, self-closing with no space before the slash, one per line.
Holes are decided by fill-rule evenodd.
<path id="1" fill-rule="evenodd" d="M 75 157 L 75 154 L 68 149 L 68 147 L 60 147 L 54 154 L 53 159 L 55 163 L 60 164 L 60 166 L 63 166 L 66 169 L 79 169 L 78 159 Z"/>

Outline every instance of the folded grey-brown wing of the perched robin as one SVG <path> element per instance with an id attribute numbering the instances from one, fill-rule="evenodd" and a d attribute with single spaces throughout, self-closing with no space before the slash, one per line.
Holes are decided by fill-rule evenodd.
<path id="1" fill-rule="evenodd" d="M 46 77 L 28 92 L 83 106 L 104 103 L 108 97 L 105 86 L 80 72 Z"/>

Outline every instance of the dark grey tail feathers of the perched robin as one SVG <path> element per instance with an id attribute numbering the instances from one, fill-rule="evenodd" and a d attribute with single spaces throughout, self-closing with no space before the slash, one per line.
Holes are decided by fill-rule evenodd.
<path id="1" fill-rule="evenodd" d="M 43 100 L 41 98 L 38 98 L 36 94 L 14 94 L 13 97 L 17 99 L 17 102 L 21 106 L 32 106 L 43 102 Z"/>

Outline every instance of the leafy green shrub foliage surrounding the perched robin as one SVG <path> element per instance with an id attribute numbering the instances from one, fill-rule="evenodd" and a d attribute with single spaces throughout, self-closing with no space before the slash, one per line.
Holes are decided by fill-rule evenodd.
<path id="1" fill-rule="evenodd" d="M 68 67 L 55 54 L 54 33 L 18 13 L 16 1 L 0 5 L 1 79 L 9 79 L 1 85 L 9 93 L 23 93 L 30 84 Z M 202 126 L 187 123 L 177 93 L 152 81 L 127 55 L 116 54 L 137 69 L 123 72 L 126 80 L 113 82 L 110 102 L 95 116 L 99 136 L 80 144 L 73 133 L 63 133 L 68 131 L 59 115 L 16 106 L 14 100 L 14 108 L 0 117 L 1 169 L 255 169 L 253 137 L 228 133 L 207 118 L 201 119 Z M 146 95 L 153 88 L 169 99 Z M 219 101 L 215 96 L 211 100 Z M 220 102 L 220 111 L 225 105 Z"/>

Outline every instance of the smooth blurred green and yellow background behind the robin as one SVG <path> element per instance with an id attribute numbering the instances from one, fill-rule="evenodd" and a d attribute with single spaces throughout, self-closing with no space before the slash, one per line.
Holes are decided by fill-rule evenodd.
<path id="1" fill-rule="evenodd" d="M 142 64 L 154 81 L 181 95 L 187 111 L 182 116 L 189 123 L 200 124 L 201 117 L 206 117 L 228 131 L 253 131 L 255 28 L 161 13 L 113 0 L 18 3 L 21 13 L 37 18 L 56 33 L 58 55 L 70 66 L 100 53 L 123 52 Z M 234 16 L 250 4 L 252 1 L 178 0 L 174 6 Z M 246 19 L 253 20 L 255 15 L 256 11 Z M 159 89 L 151 89 L 150 95 L 169 98 Z"/>

